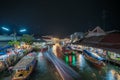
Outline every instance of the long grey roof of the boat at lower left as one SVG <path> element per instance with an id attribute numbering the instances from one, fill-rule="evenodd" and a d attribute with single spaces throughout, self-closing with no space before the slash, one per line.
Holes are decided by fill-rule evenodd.
<path id="1" fill-rule="evenodd" d="M 13 68 L 13 70 L 16 69 L 26 69 L 34 60 L 35 57 L 33 56 L 25 56 L 23 57 Z"/>

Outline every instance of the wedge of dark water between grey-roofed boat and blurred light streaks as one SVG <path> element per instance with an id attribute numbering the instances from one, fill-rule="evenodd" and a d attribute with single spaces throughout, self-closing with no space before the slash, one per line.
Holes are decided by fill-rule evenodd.
<path id="1" fill-rule="evenodd" d="M 43 54 L 39 53 L 37 58 L 38 62 L 35 71 L 30 76 L 29 80 L 54 80 Z"/>

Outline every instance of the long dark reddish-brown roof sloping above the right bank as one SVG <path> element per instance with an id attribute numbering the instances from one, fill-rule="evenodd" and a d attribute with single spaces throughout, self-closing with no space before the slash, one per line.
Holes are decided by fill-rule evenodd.
<path id="1" fill-rule="evenodd" d="M 79 43 L 120 53 L 120 33 L 110 33 L 105 36 L 93 36 L 85 38 Z"/>

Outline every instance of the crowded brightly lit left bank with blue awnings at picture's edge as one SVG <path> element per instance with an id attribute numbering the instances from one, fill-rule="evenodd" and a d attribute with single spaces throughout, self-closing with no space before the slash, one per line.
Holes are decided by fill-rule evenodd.
<path id="1" fill-rule="evenodd" d="M 20 59 L 24 55 L 24 51 L 25 49 L 18 49 L 9 45 L 0 48 L 0 72 Z"/>

